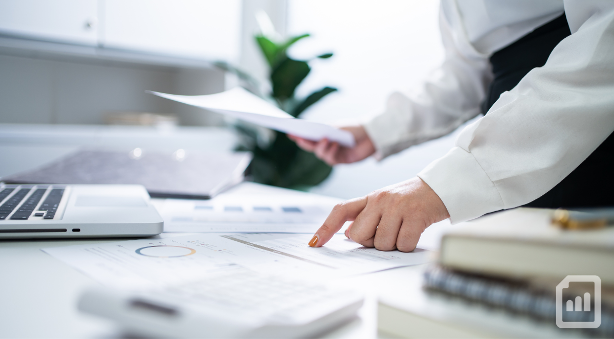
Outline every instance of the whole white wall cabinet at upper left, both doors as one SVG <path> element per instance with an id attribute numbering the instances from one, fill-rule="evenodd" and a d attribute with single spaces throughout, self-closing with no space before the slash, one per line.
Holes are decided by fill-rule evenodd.
<path id="1" fill-rule="evenodd" d="M 241 0 L 0 0 L 0 35 L 234 62 Z"/>

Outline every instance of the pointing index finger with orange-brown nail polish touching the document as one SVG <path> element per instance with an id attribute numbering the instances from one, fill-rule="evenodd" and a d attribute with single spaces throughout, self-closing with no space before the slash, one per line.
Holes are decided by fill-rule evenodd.
<path id="1" fill-rule="evenodd" d="M 335 205 L 328 214 L 324 224 L 318 228 L 316 234 L 309 241 L 311 247 L 321 247 L 343 227 L 346 221 L 354 221 L 358 214 L 367 206 L 367 197 L 354 198 Z"/>

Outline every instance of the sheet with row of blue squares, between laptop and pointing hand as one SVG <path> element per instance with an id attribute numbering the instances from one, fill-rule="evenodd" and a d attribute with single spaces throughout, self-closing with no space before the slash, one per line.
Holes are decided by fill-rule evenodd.
<path id="1" fill-rule="evenodd" d="M 301 195 L 222 193 L 211 200 L 154 201 L 164 232 L 281 232 L 312 234 L 341 199 Z M 341 231 L 340 231 L 341 232 Z"/>

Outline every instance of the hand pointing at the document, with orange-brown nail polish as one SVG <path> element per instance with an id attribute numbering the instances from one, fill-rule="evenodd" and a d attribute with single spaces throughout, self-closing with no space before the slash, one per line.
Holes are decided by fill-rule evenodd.
<path id="1" fill-rule="evenodd" d="M 411 252 L 427 227 L 449 217 L 437 193 L 414 177 L 338 203 L 309 246 L 321 247 L 346 221 L 353 221 L 346 236 L 356 243 L 380 251 Z"/>

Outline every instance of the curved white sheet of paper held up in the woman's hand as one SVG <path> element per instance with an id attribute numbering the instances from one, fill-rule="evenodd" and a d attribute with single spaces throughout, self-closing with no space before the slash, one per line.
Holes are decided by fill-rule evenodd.
<path id="1" fill-rule="evenodd" d="M 343 146 L 354 147 L 352 133 L 324 123 L 297 119 L 262 98 L 235 87 L 226 92 L 211 95 L 173 95 L 147 91 L 162 98 L 171 99 L 210 111 L 230 115 L 236 119 L 255 123 L 266 128 L 294 134 L 301 138 L 318 141 L 327 138 Z"/>

